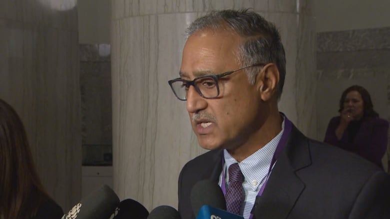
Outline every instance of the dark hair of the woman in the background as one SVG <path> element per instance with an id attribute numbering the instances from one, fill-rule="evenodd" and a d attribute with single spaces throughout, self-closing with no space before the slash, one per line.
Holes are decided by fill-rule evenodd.
<path id="1" fill-rule="evenodd" d="M 368 91 L 364 87 L 359 86 L 359 85 L 352 85 L 352 86 L 346 88 L 342 92 L 341 98 L 340 98 L 340 102 L 339 102 L 338 112 L 341 112 L 344 109 L 345 97 L 351 91 L 357 91 L 360 94 L 361 99 L 363 100 L 363 112 L 364 112 L 363 113 L 363 118 L 367 118 L 367 117 L 374 117 L 374 118 L 376 118 L 376 117 L 379 117 L 379 114 L 373 110 L 371 96 L 369 95 Z"/>

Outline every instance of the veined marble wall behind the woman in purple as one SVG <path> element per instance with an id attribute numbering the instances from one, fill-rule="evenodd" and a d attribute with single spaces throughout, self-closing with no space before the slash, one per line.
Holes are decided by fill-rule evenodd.
<path id="1" fill-rule="evenodd" d="M 389 49 L 390 27 L 317 34 L 316 105 L 320 140 L 325 136 L 330 118 L 338 115 L 342 91 L 353 84 L 365 87 L 371 95 L 374 110 L 390 121 Z M 385 168 L 386 161 L 385 156 Z"/>

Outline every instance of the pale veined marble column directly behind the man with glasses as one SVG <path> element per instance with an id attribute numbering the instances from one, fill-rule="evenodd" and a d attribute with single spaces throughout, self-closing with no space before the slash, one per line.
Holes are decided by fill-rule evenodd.
<path id="1" fill-rule="evenodd" d="M 185 102 L 167 81 L 178 76 L 184 30 L 212 9 L 251 7 L 279 28 L 287 57 L 283 111 L 315 137 L 315 31 L 309 0 L 112 0 L 113 183 L 120 199 L 151 210 L 177 206 L 182 166 L 204 152 Z"/>

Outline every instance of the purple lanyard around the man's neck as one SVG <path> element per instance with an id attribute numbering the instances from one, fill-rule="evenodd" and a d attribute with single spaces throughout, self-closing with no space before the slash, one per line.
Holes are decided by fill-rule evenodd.
<path id="1" fill-rule="evenodd" d="M 287 119 L 287 117 L 284 116 L 284 130 L 283 130 L 283 134 L 281 135 L 280 141 L 279 141 L 279 143 L 276 146 L 275 152 L 273 153 L 271 164 L 269 165 L 268 173 L 265 176 L 265 182 L 262 184 L 262 186 L 260 188 L 260 191 L 258 191 L 257 196 L 261 196 L 262 192 L 265 189 L 265 186 L 266 186 L 266 184 L 268 182 L 268 177 L 269 177 L 269 175 L 271 173 L 272 167 L 275 164 L 277 158 L 279 157 L 281 151 L 283 150 L 284 146 L 287 143 L 288 136 L 289 136 L 289 134 L 291 132 L 291 127 L 292 127 L 292 123 Z M 222 189 L 223 195 L 226 196 L 225 168 L 223 168 L 224 164 L 225 164 L 225 159 L 224 159 L 223 154 L 222 154 L 222 182 L 221 182 L 221 189 Z M 250 214 L 249 219 L 252 219 L 252 218 L 253 218 L 253 215 Z"/>

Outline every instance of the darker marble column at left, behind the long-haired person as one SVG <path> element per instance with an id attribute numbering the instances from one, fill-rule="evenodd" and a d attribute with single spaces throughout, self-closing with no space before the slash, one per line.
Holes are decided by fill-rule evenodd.
<path id="1" fill-rule="evenodd" d="M 0 48 L 0 98 L 21 117 L 40 179 L 67 211 L 81 188 L 76 0 L 1 0 Z"/>

